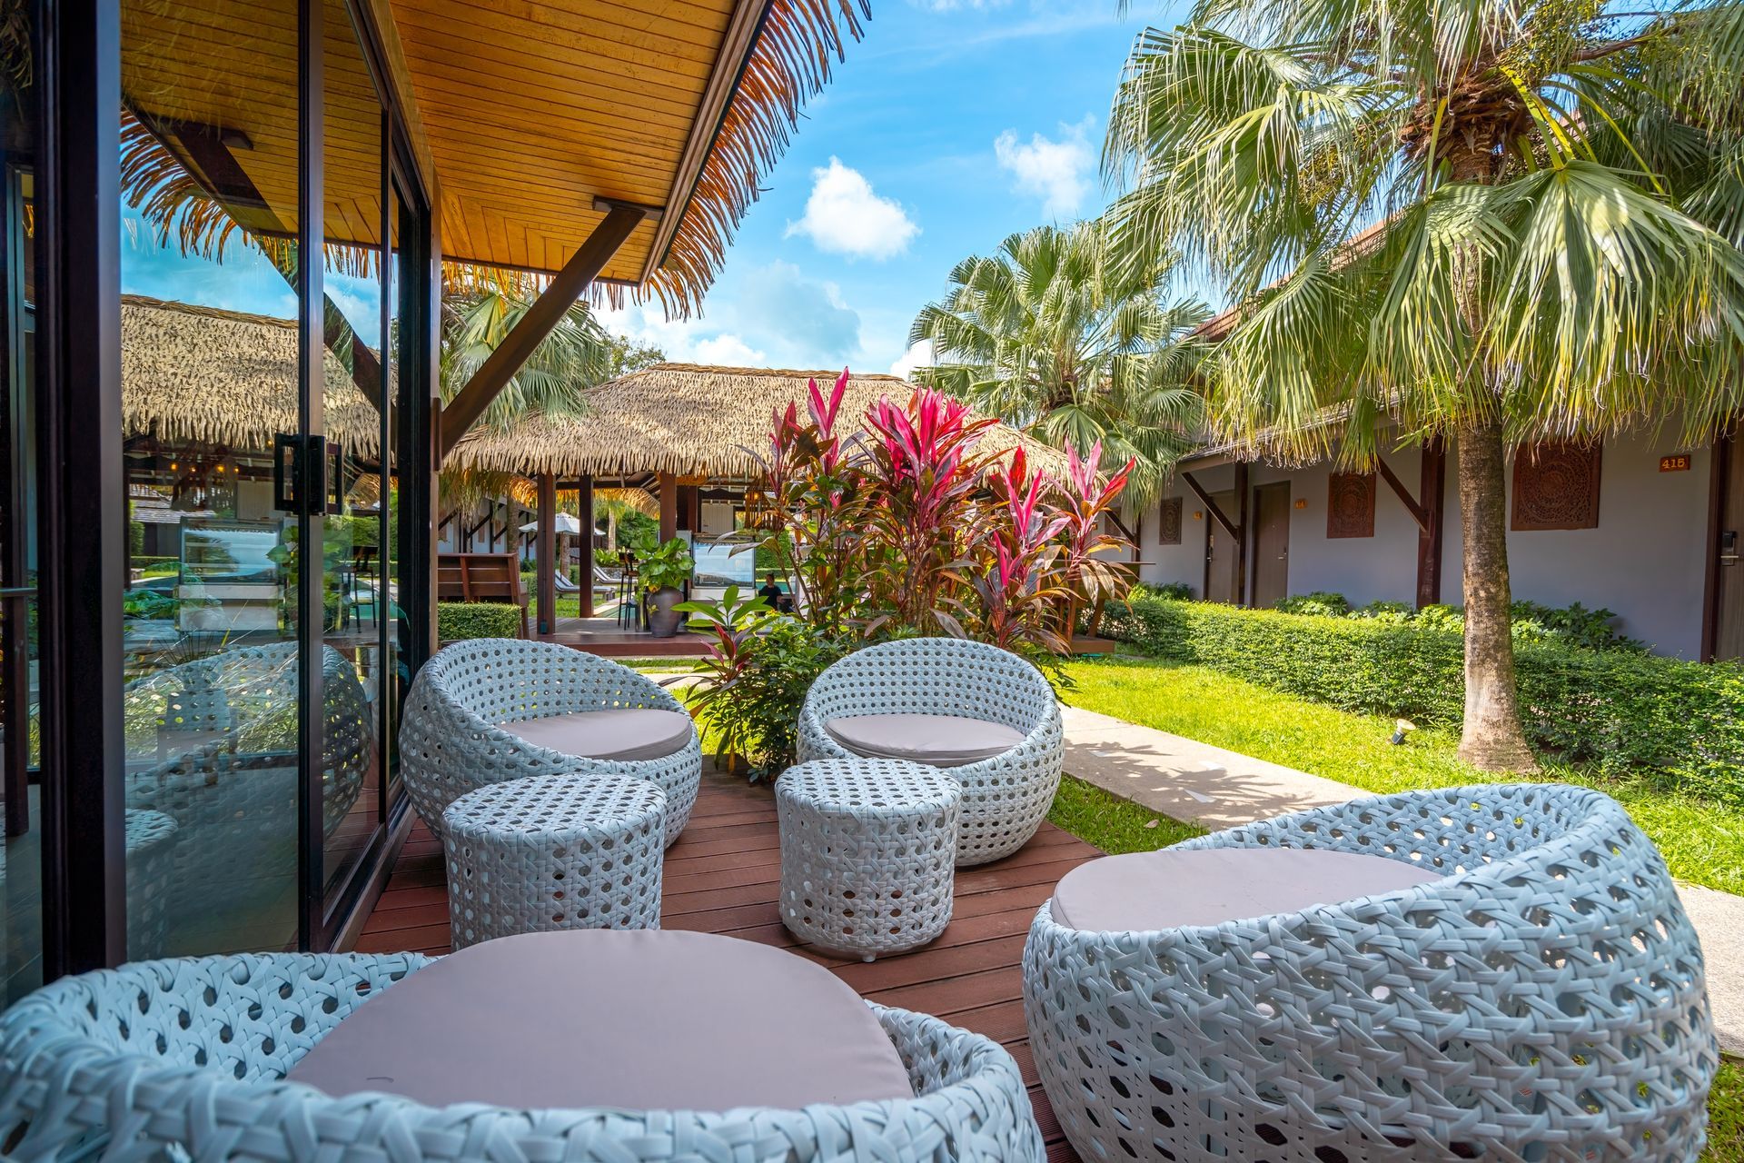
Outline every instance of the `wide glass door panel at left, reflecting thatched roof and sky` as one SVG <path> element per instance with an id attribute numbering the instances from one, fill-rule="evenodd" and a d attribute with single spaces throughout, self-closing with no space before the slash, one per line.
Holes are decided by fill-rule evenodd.
<path id="1" fill-rule="evenodd" d="M 286 949 L 305 612 L 272 450 L 300 436 L 296 2 L 120 12 L 129 957 Z"/>

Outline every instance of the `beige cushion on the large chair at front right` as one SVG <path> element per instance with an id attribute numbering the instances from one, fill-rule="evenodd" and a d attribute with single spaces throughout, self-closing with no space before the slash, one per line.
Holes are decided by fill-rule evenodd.
<path id="1" fill-rule="evenodd" d="M 1439 881 L 1386 856 L 1306 847 L 1193 847 L 1078 865 L 1053 889 L 1053 919 L 1090 933 L 1151 933 L 1336 905 Z"/>

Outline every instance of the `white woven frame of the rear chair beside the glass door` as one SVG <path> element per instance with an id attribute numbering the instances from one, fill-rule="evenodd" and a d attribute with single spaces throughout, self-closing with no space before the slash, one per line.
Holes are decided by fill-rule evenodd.
<path id="1" fill-rule="evenodd" d="M 651 678 L 610 659 L 549 642 L 474 638 L 439 650 L 419 671 L 399 725 L 399 765 L 419 816 L 438 837 L 448 804 L 487 783 L 588 772 L 635 776 L 666 793 L 666 844 L 678 839 L 703 779 L 703 745 L 661 758 L 586 758 L 535 746 L 499 724 L 649 708 L 684 713 Z"/>

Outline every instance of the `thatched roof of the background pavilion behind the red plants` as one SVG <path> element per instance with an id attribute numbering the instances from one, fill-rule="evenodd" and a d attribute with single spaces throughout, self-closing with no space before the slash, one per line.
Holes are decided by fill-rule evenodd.
<path id="1" fill-rule="evenodd" d="M 835 375 L 657 363 L 591 389 L 586 415 L 528 417 L 508 432 L 474 427 L 443 464 L 460 471 L 560 478 L 750 476 L 757 462 L 746 450 L 767 448 L 771 413 L 785 411 L 788 403 L 804 408 L 806 380 L 828 385 Z M 895 375 L 855 375 L 848 380 L 841 415 L 860 418 L 881 396 L 902 403 L 914 391 L 914 384 Z M 994 452 L 1017 445 L 1032 464 L 1064 473 L 1066 457 L 1059 450 L 1005 424 L 982 438 L 982 446 Z"/>

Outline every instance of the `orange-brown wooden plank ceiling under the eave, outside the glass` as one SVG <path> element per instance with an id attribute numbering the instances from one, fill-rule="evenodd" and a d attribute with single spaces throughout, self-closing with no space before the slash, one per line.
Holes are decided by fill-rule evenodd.
<path id="1" fill-rule="evenodd" d="M 743 0 L 757 3 L 759 0 Z M 734 0 L 392 0 L 446 256 L 555 270 L 595 199 L 664 206 Z M 605 269 L 640 281 L 644 223 Z"/>

